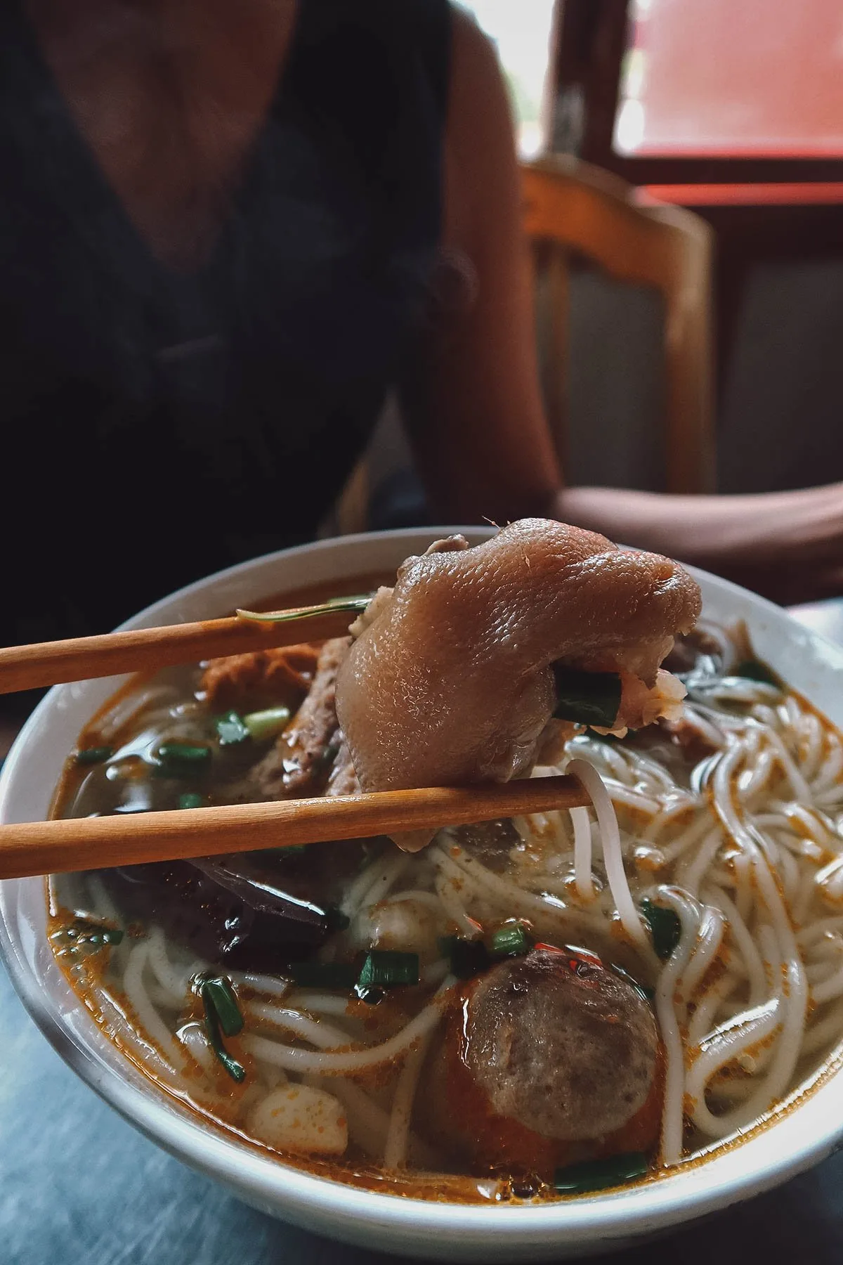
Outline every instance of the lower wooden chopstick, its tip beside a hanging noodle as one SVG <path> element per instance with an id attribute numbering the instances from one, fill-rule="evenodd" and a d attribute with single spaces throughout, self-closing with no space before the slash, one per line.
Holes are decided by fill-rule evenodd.
<path id="1" fill-rule="evenodd" d="M 556 775 L 470 787 L 29 821 L 0 826 L 0 878 L 294 848 L 326 839 L 460 826 L 588 803 L 590 799 L 576 778 Z"/>

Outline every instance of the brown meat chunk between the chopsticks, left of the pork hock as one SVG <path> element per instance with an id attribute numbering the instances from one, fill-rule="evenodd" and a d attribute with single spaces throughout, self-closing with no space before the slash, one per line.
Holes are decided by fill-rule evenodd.
<path id="1" fill-rule="evenodd" d="M 350 644 L 348 636 L 325 643 L 307 697 L 273 749 L 252 770 L 250 781 L 264 798 L 320 794 L 325 789 L 343 746 L 334 694 L 336 674 Z"/>

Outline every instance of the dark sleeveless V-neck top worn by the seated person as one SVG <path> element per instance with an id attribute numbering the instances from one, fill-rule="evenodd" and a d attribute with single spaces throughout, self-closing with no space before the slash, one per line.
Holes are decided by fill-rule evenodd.
<path id="1" fill-rule="evenodd" d="M 0 5 L 0 644 L 312 538 L 422 318 L 446 0 L 300 0 L 211 258 L 131 226 Z"/>

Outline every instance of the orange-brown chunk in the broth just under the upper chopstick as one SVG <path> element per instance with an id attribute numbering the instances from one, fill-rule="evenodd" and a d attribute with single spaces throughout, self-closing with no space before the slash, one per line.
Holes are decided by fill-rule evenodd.
<path id="1" fill-rule="evenodd" d="M 200 689 L 212 707 L 268 706 L 272 700 L 294 708 L 310 689 L 317 659 L 318 646 L 308 643 L 211 659 Z"/>

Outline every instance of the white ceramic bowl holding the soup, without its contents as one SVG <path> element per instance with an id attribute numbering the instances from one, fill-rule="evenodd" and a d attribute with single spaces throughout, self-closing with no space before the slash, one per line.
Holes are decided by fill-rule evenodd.
<path id="1" fill-rule="evenodd" d="M 259 558 L 164 598 L 126 626 L 210 617 L 283 589 L 394 568 L 444 534 L 446 529 L 346 536 Z M 470 529 L 465 534 L 478 541 L 489 533 Z M 843 650 L 733 584 L 704 573 L 696 578 L 705 614 L 744 619 L 758 654 L 843 726 Z M 51 691 L 0 775 L 1 821 L 47 815 L 67 751 L 119 684 L 120 679 L 110 678 Z M 607 1251 L 768 1189 L 827 1156 L 843 1133 L 843 1075 L 837 1073 L 739 1145 L 627 1192 L 542 1207 L 463 1207 L 356 1190 L 210 1132 L 157 1092 L 80 1006 L 56 966 L 44 923 L 40 879 L 0 884 L 0 949 L 6 966 L 29 1013 L 71 1068 L 148 1137 L 248 1203 L 367 1247 L 454 1261 Z"/>

